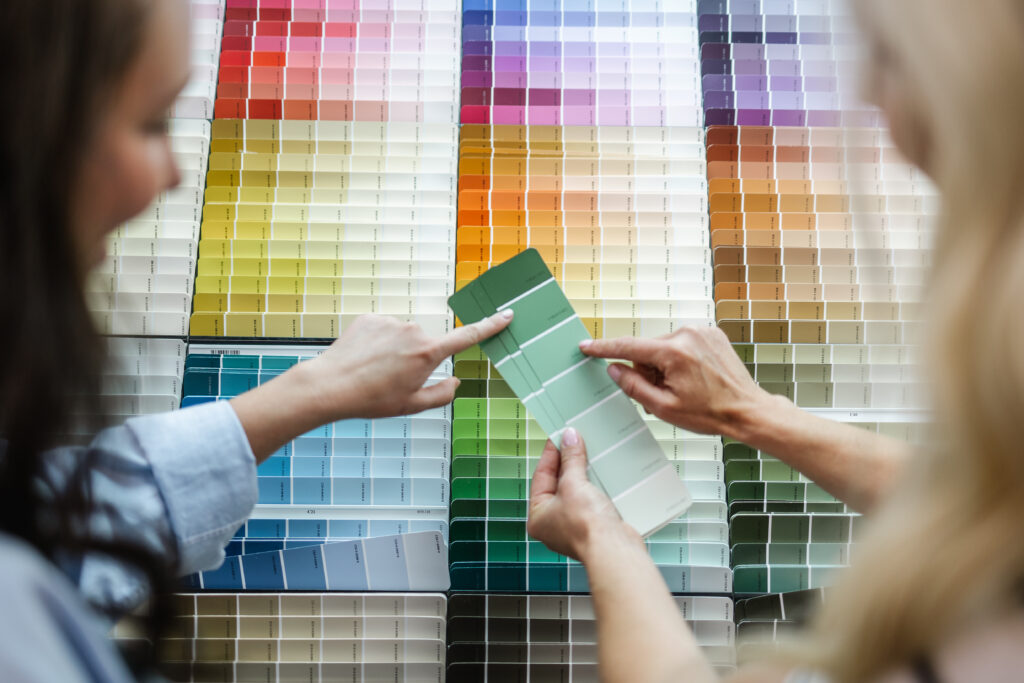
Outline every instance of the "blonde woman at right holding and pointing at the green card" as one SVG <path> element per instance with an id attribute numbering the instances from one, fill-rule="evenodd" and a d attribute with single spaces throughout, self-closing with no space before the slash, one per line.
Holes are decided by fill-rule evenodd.
<path id="1" fill-rule="evenodd" d="M 1024 3 L 854 5 L 865 94 L 943 200 L 926 302 L 935 445 L 911 456 L 769 396 L 718 331 L 585 350 L 632 360 L 609 373 L 654 415 L 771 453 L 871 515 L 798 648 L 738 680 L 1021 680 Z M 585 472 L 578 435 L 560 457 L 549 444 L 528 524 L 587 566 L 603 679 L 716 680 L 639 538 Z"/>

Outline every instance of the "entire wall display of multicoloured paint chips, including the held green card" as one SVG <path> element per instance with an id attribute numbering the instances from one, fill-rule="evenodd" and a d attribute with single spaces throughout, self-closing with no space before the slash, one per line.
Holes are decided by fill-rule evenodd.
<path id="1" fill-rule="evenodd" d="M 225 562 L 186 580 L 221 592 L 181 596 L 174 680 L 597 680 L 592 605 L 564 595 L 586 571 L 525 529 L 566 426 L 716 667 L 800 621 L 818 592 L 788 591 L 834 581 L 861 518 L 638 412 L 578 343 L 717 326 L 766 390 L 926 439 L 938 197 L 853 97 L 845 3 L 193 0 L 190 20 L 180 186 L 87 285 L 106 414 L 230 398 L 367 312 L 515 317 L 431 377 L 461 380 L 453 404 L 259 466 Z"/>

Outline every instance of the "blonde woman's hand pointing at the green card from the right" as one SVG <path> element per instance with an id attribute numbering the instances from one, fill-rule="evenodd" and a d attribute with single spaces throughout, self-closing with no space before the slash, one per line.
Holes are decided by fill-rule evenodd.
<path id="1" fill-rule="evenodd" d="M 587 355 L 632 360 L 608 375 L 648 413 L 683 429 L 735 436 L 750 416 L 772 400 L 746 372 L 718 328 L 683 328 L 657 339 L 587 340 Z"/>

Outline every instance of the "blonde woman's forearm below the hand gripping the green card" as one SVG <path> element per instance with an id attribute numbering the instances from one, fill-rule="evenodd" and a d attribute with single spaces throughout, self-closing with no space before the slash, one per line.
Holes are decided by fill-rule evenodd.
<path id="1" fill-rule="evenodd" d="M 639 536 L 597 535 L 583 557 L 605 683 L 718 680 Z"/>

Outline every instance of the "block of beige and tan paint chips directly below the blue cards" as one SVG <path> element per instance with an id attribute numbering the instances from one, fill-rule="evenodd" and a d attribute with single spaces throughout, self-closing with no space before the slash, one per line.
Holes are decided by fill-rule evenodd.
<path id="1" fill-rule="evenodd" d="M 444 677 L 445 603 L 430 593 L 182 594 L 165 671 L 175 683 L 432 683 Z M 139 637 L 129 622 L 113 635 Z"/>

